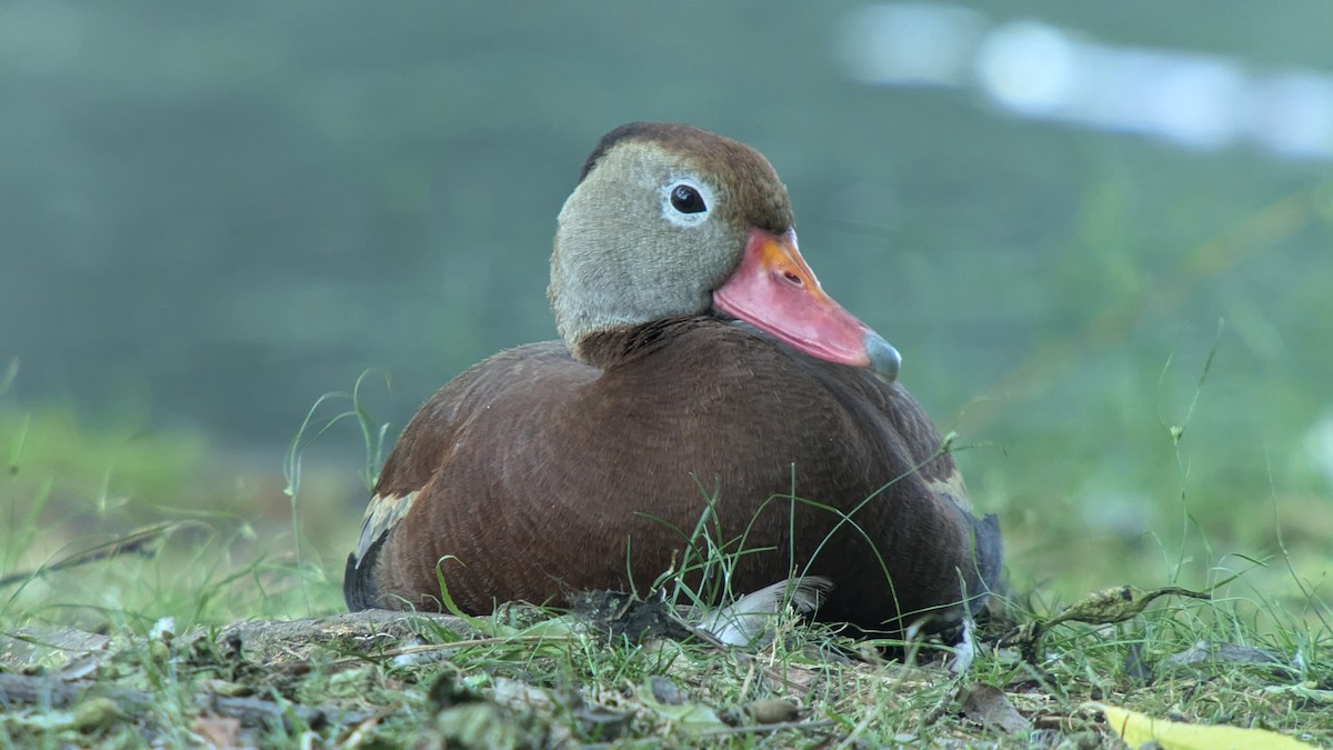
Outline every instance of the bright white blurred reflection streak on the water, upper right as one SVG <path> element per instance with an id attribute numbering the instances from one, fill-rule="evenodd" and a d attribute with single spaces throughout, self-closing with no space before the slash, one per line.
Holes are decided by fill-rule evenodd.
<path id="1" fill-rule="evenodd" d="M 870 85 L 974 88 L 1024 117 L 1212 149 L 1252 141 L 1333 159 L 1333 76 L 1262 72 L 1186 51 L 1116 47 L 1037 20 L 994 24 L 945 3 L 865 5 L 834 43 Z"/>

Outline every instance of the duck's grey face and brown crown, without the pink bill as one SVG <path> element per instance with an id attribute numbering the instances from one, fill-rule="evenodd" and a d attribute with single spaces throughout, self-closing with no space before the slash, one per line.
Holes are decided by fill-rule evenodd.
<path id="1" fill-rule="evenodd" d="M 684 137 L 612 144 L 560 212 L 548 298 L 575 352 L 593 331 L 706 312 L 752 227 L 790 224 L 757 152 L 694 128 L 666 135 Z"/>

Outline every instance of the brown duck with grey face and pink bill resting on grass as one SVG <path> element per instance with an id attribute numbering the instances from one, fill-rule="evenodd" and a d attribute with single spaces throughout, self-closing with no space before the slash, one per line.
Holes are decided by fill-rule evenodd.
<path id="1" fill-rule="evenodd" d="M 702 575 L 701 546 L 726 591 L 830 581 L 814 617 L 865 634 L 957 627 L 996 590 L 998 520 L 898 351 L 820 286 L 754 148 L 612 129 L 559 214 L 547 296 L 559 340 L 472 366 L 403 430 L 349 610 L 649 591 Z"/>

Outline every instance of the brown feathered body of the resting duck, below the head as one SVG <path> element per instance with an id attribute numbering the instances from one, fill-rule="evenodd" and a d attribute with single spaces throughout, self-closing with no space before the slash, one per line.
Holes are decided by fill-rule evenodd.
<path id="1" fill-rule="evenodd" d="M 956 621 L 960 581 L 969 597 L 994 585 L 993 519 L 977 522 L 953 494 L 953 460 L 902 387 L 710 316 L 584 343 L 605 370 L 563 343 L 529 344 L 475 366 L 421 408 L 376 487 L 380 498 L 420 495 L 365 560 L 373 570 L 349 560 L 375 603 L 437 609 L 447 555 L 461 563 L 443 563 L 449 593 L 472 613 L 643 590 L 682 540 L 641 514 L 692 528 L 701 487 L 720 490 L 725 539 L 749 524 L 746 547 L 774 547 L 738 562 L 738 591 L 793 570 L 825 575 L 837 589 L 821 618 L 898 631 L 932 610 Z M 793 467 L 797 498 L 854 511 L 854 523 L 792 503 Z M 933 491 L 950 482 L 949 495 Z"/>

